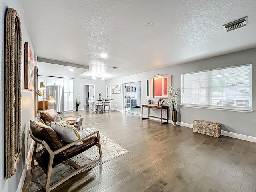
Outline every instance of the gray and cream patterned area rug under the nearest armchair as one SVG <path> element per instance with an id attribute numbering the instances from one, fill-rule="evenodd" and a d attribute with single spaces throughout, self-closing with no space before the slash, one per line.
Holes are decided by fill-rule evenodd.
<path id="1" fill-rule="evenodd" d="M 96 131 L 96 128 L 88 128 L 86 129 L 88 132 Z M 100 165 L 104 162 L 112 160 L 118 156 L 128 153 L 128 150 L 122 148 L 119 144 L 114 142 L 109 137 L 105 136 L 104 134 L 100 133 L 100 143 L 102 148 L 102 159 L 85 170 L 93 168 L 97 165 Z M 93 146 L 92 148 L 86 150 L 85 152 L 81 153 L 78 156 L 71 158 L 74 162 L 76 162 L 79 166 L 83 166 L 92 160 L 95 160 L 99 157 L 98 146 Z M 50 184 L 54 184 L 55 182 L 59 181 L 66 175 L 73 172 L 75 169 L 68 163 L 59 164 L 54 168 L 54 173 L 51 175 L 51 182 Z M 85 171 L 84 170 L 84 171 Z M 46 174 L 42 171 L 40 167 L 37 167 L 33 170 L 32 173 L 32 180 L 30 184 L 30 192 L 34 192 L 40 188 L 44 188 L 46 181 Z"/>

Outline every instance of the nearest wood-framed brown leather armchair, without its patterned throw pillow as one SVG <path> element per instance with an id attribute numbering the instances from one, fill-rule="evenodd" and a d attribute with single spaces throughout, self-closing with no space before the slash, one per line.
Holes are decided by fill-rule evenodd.
<path id="1" fill-rule="evenodd" d="M 40 166 L 46 174 L 46 192 L 53 190 L 78 172 L 101 160 L 102 151 L 100 146 L 99 131 L 89 133 L 85 130 L 78 130 L 78 132 L 81 132 L 86 136 L 72 143 L 66 143 L 60 139 L 60 136 L 51 127 L 38 121 L 30 121 L 29 134 L 35 141 L 31 167 L 35 168 Z M 95 134 L 97 136 L 95 136 Z M 82 141 L 83 144 L 76 145 L 79 141 Z M 42 144 L 43 148 L 37 151 L 38 144 Z M 96 160 L 93 160 L 90 163 L 80 167 L 70 159 L 95 145 L 98 146 L 100 155 Z M 38 163 L 37 165 L 34 164 L 35 160 Z M 53 168 L 63 161 L 66 161 L 70 165 L 74 166 L 76 170 L 50 186 L 50 177 L 53 172 Z"/>

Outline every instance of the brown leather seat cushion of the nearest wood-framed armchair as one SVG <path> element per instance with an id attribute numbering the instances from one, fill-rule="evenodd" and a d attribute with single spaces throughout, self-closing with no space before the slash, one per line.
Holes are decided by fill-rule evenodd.
<path id="1" fill-rule="evenodd" d="M 85 131 L 85 130 L 78 130 L 78 132 L 80 133 L 81 137 L 84 137 L 88 134 L 90 134 L 89 132 Z M 83 144 L 81 145 L 74 145 L 71 146 L 70 148 L 64 150 L 62 153 L 57 154 L 58 158 L 62 159 L 62 160 L 66 160 L 69 158 L 72 158 L 82 152 L 84 152 L 85 150 L 91 148 L 92 146 L 98 144 L 98 138 L 95 135 L 92 135 L 86 139 L 84 139 Z M 64 145 L 67 145 L 67 142 L 63 142 Z"/>

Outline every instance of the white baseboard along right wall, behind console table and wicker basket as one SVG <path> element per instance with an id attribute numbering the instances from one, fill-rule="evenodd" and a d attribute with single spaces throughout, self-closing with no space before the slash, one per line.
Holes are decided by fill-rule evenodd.
<path id="1" fill-rule="evenodd" d="M 143 115 L 143 117 L 145 118 L 147 116 Z M 149 117 L 149 119 L 160 121 L 160 119 L 154 118 L 154 117 Z M 169 119 L 168 123 L 172 124 L 173 121 Z M 188 127 L 188 128 L 193 128 L 193 124 L 179 122 L 179 121 L 177 122 L 177 125 Z M 221 130 L 221 135 L 256 143 L 256 137 L 252 137 L 252 136 L 248 136 L 248 135 L 242 135 L 239 133 L 233 133 L 233 132 L 222 131 L 222 130 Z"/>

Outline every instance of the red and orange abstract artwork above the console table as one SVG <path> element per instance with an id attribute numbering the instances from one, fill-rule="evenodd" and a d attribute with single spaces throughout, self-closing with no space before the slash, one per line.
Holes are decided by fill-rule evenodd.
<path id="1" fill-rule="evenodd" d="M 147 98 L 168 98 L 168 86 L 171 86 L 170 75 L 148 79 Z"/>

